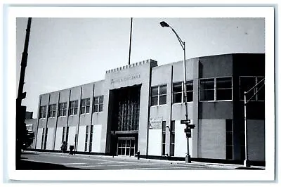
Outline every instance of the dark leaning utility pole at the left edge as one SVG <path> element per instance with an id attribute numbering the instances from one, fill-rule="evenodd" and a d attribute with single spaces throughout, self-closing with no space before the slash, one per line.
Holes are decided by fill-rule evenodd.
<path id="1" fill-rule="evenodd" d="M 22 106 L 22 99 L 26 97 L 26 92 L 23 91 L 23 85 L 25 84 L 25 67 L 27 66 L 27 50 L 28 50 L 28 44 L 30 41 L 30 26 L 31 26 L 31 19 L 28 18 L 27 21 L 27 29 L 26 29 L 26 35 L 25 35 L 25 48 L 22 52 L 22 60 L 20 63 L 20 80 L 18 84 L 18 97 L 16 99 L 16 114 L 15 114 L 15 123 L 16 123 L 16 129 L 15 129 L 15 154 L 16 154 L 16 164 L 17 161 L 20 160 L 20 154 L 22 149 L 22 143 L 24 141 L 24 138 L 26 136 L 26 127 L 25 127 L 25 112 L 26 112 L 26 106 Z"/>

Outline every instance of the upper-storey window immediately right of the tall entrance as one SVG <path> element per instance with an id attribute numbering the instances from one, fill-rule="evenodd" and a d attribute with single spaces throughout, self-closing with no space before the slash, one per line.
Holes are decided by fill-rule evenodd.
<path id="1" fill-rule="evenodd" d="M 151 105 L 166 104 L 166 85 L 151 88 Z"/>

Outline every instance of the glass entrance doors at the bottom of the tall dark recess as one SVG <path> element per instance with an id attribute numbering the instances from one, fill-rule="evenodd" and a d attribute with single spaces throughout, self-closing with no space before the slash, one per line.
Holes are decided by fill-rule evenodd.
<path id="1" fill-rule="evenodd" d="M 117 155 L 134 156 L 135 149 L 135 138 L 118 138 Z"/>

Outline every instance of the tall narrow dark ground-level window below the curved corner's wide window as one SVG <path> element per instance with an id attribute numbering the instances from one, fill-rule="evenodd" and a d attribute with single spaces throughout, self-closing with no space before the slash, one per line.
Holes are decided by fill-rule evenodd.
<path id="1" fill-rule="evenodd" d="M 233 160 L 233 120 L 226 120 L 226 159 Z"/>

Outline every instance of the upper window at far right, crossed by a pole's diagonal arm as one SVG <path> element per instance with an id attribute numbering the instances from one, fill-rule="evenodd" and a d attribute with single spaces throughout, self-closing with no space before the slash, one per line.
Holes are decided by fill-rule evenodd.
<path id="1" fill-rule="evenodd" d="M 256 84 L 261 82 L 264 79 L 264 77 L 240 77 L 240 100 L 244 100 L 244 91 L 249 91 L 252 87 L 254 87 Z M 254 89 L 249 91 L 246 95 L 247 101 L 249 98 L 254 96 L 254 94 L 259 90 L 259 92 L 254 96 L 254 98 L 251 99 L 251 101 L 264 101 L 265 98 L 265 89 L 263 86 L 264 82 L 261 82 L 259 85 L 257 85 Z"/>

